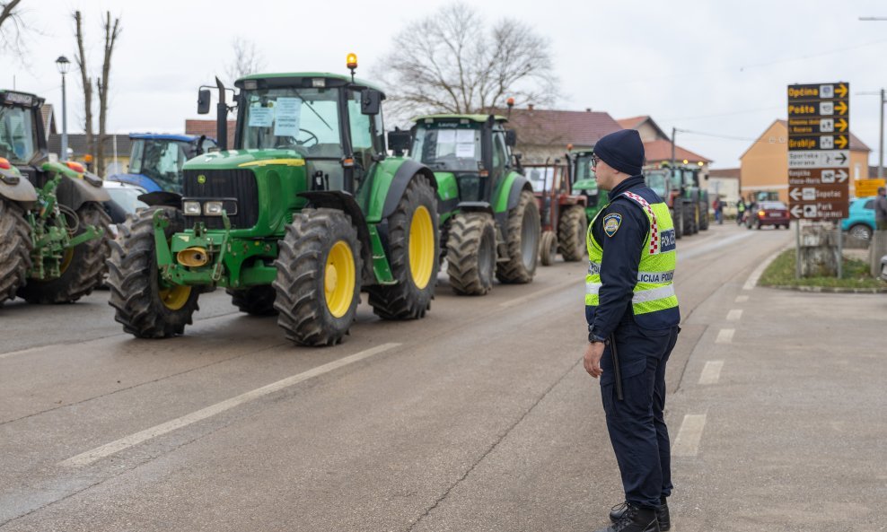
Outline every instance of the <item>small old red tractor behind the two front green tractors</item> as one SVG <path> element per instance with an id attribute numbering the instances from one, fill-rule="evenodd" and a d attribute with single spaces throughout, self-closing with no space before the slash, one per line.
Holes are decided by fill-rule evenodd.
<path id="1" fill-rule="evenodd" d="M 566 164 L 526 164 L 524 174 L 533 187 L 542 224 L 540 259 L 551 266 L 560 253 L 566 262 L 581 260 L 585 253 L 585 196 L 572 191 Z"/>

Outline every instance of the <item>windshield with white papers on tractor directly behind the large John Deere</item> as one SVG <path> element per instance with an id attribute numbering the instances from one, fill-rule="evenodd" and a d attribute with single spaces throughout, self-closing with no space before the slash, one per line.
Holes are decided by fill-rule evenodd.
<path id="1" fill-rule="evenodd" d="M 455 122 L 419 124 L 409 153 L 432 170 L 478 171 L 480 129 Z"/>

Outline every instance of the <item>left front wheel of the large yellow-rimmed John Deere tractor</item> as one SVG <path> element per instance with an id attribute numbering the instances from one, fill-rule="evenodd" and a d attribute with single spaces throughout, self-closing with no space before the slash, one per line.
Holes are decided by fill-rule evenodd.
<path id="1" fill-rule="evenodd" d="M 158 210 L 170 222 L 164 230 L 167 241 L 184 229 L 185 219 L 179 209 L 154 207 L 139 211 L 119 225 L 108 260 L 108 303 L 117 310 L 114 319 L 123 324 L 124 331 L 139 338 L 180 335 L 198 310 L 197 287 L 160 284 L 154 241 L 154 213 Z"/>

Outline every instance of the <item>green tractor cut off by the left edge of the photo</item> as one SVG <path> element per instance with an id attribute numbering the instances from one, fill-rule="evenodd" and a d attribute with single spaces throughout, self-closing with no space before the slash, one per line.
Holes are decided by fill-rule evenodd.
<path id="1" fill-rule="evenodd" d="M 49 157 L 41 105 L 0 91 L 0 304 L 77 301 L 106 271 L 110 196 L 79 163 Z"/>

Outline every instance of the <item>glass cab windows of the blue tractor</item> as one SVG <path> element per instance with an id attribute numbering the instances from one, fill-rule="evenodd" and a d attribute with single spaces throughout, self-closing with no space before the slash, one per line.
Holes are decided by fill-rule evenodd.
<path id="1" fill-rule="evenodd" d="M 185 141 L 136 138 L 129 155 L 129 173 L 141 174 L 167 192 L 181 193 L 181 167 L 193 151 Z"/>

